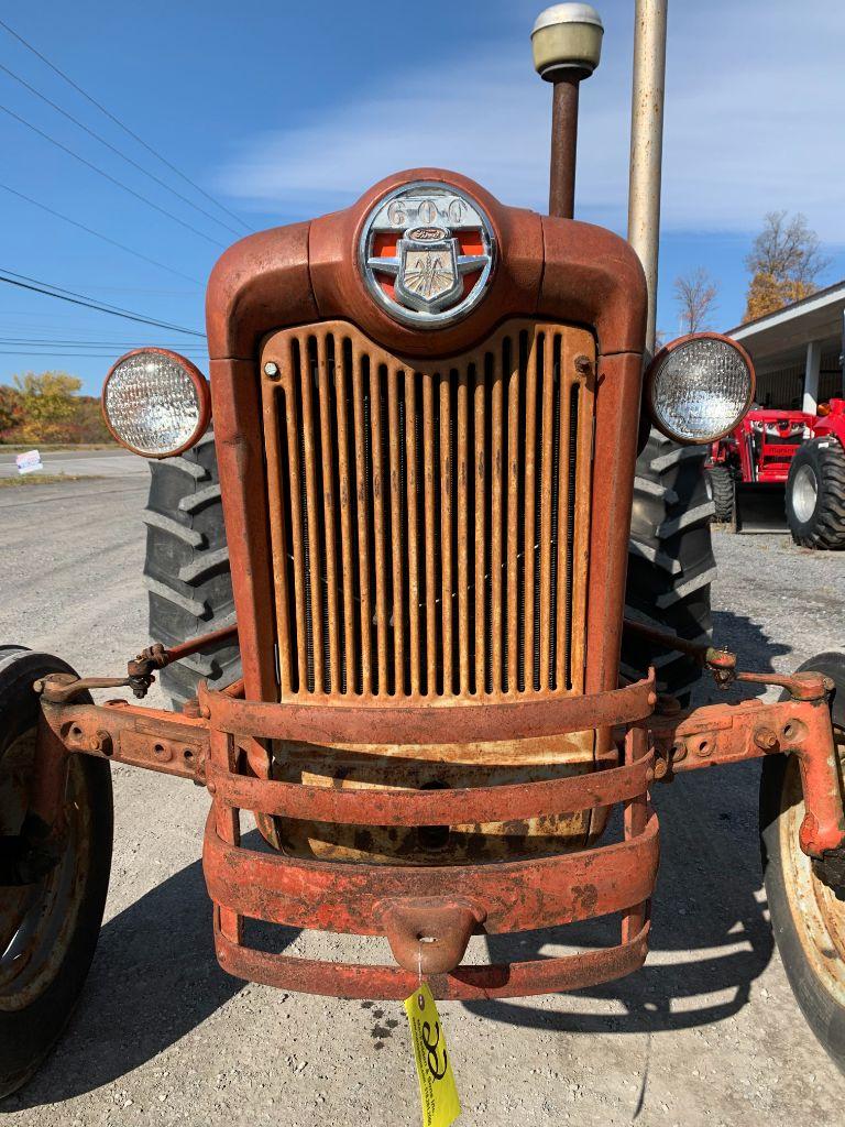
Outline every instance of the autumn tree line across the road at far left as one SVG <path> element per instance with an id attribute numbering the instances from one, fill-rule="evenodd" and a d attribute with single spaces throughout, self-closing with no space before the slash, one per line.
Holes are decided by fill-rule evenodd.
<path id="1" fill-rule="evenodd" d="M 66 372 L 27 372 L 0 384 L 0 443 L 112 442 L 98 396 Z"/>

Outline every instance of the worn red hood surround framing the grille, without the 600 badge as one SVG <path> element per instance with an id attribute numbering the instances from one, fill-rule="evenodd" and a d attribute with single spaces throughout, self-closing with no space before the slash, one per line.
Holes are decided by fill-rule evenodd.
<path id="1" fill-rule="evenodd" d="M 505 248 L 497 267 L 491 290 L 471 319 L 437 334 L 436 340 L 391 321 L 366 295 L 355 265 L 356 239 L 364 218 L 372 204 L 382 194 L 399 184 L 421 176 L 427 179 L 444 179 L 474 195 L 488 211 L 496 228 L 499 245 Z M 578 545 L 575 575 L 586 584 L 586 560 L 589 554 L 589 623 L 590 653 L 586 655 L 586 690 L 595 692 L 615 686 L 619 653 L 617 620 L 624 591 L 625 544 L 630 518 L 632 491 L 635 419 L 640 405 L 640 380 L 646 290 L 641 267 L 635 255 L 623 240 L 587 224 L 573 221 L 543 219 L 514 208 L 502 207 L 483 189 L 460 176 L 432 169 L 415 170 L 390 177 L 367 192 L 361 201 L 345 212 L 336 213 L 309 224 L 283 228 L 250 237 L 226 252 L 215 267 L 212 277 L 207 314 L 212 355 L 212 397 L 215 415 L 215 441 L 223 486 L 223 505 L 226 527 L 230 531 L 230 551 L 234 601 L 238 612 L 243 660 L 246 695 L 254 700 L 277 699 L 278 687 L 273 660 L 274 645 L 284 621 L 276 622 L 276 591 L 274 589 L 273 553 L 268 536 L 268 511 L 266 504 L 264 440 L 261 436 L 260 376 L 258 371 L 258 347 L 261 337 L 291 326 L 317 326 L 321 320 L 346 318 L 355 322 L 373 340 L 391 355 L 427 354 L 459 355 L 469 347 L 483 341 L 495 327 L 506 317 L 540 316 L 553 323 L 562 319 L 575 320 L 585 326 L 594 326 L 598 338 L 599 356 L 596 362 L 596 464 L 602 465 L 594 483 L 593 521 L 590 540 L 586 538 Z M 466 389 L 465 402 L 455 403 L 454 410 L 465 416 L 469 425 L 480 418 L 480 405 Z M 354 392 L 354 389 L 353 389 Z M 319 380 L 313 388 L 313 402 L 319 406 L 321 388 Z M 324 391 L 323 391 L 324 394 Z M 501 401 L 500 401 L 501 400 Z M 433 420 L 438 401 L 424 390 L 421 415 L 424 424 Z M 545 403 L 537 405 L 542 419 Z M 389 400 L 385 410 L 389 418 L 401 411 L 402 400 Z M 406 400 L 407 409 L 407 400 Z M 489 426 L 492 442 L 504 449 L 509 425 L 504 396 L 492 394 L 484 403 L 484 426 Z M 392 412 L 392 414 L 391 414 Z M 372 426 L 372 423 L 371 423 Z M 315 432 L 320 442 L 322 431 Z M 344 456 L 343 433 L 338 434 L 338 458 Z M 585 438 L 586 441 L 586 438 Z M 419 459 L 416 436 L 408 434 L 404 450 L 406 463 Z M 630 447 L 630 449 L 629 449 Z M 397 444 L 391 435 L 383 446 L 386 453 L 395 452 Z M 542 450 L 542 444 L 541 444 Z M 399 451 L 401 454 L 401 450 Z M 347 450 L 346 458 L 354 461 L 354 452 Z M 304 459 L 303 459 L 304 464 Z M 319 459 L 313 460 L 319 468 Z M 306 467 L 305 467 L 306 469 Z M 527 469 L 527 467 L 526 467 Z M 539 470 L 540 489 L 543 473 Z M 409 481 L 411 477 L 409 477 Z M 420 495 L 421 494 L 421 495 Z M 472 490 L 468 499 L 472 498 Z M 326 498 L 321 500 L 326 504 Z M 332 497 L 337 505 L 337 497 Z M 436 505 L 438 498 L 417 488 L 416 498 L 409 498 L 409 513 L 413 505 L 417 518 L 425 518 L 426 505 Z M 585 496 L 585 503 L 587 498 Z M 497 507 L 498 506 L 498 507 Z M 459 522 L 464 515 L 459 511 Z M 466 514 L 468 535 L 471 534 L 471 511 Z M 505 514 L 496 490 L 491 498 L 490 520 L 502 521 Z M 373 516 L 375 520 L 375 513 Z M 390 506 L 385 506 L 382 520 L 392 520 Z M 544 514 L 540 514 L 540 530 L 543 530 Z M 348 526 L 347 526 L 348 527 Z M 450 531 L 455 527 L 451 526 Z M 463 524 L 461 524 L 463 527 Z M 348 559 L 344 557 L 343 516 L 340 521 L 341 542 L 335 550 L 333 561 L 326 558 L 326 568 L 335 569 L 337 595 L 348 598 Z M 521 521 L 517 531 L 524 535 Z M 455 527 L 456 532 L 456 527 Z M 478 564 L 478 538 L 470 536 Z M 303 540 L 304 544 L 304 540 Z M 391 545 L 392 548 L 392 545 Z M 350 544 L 352 553 L 355 543 Z M 499 548 L 490 545 L 491 597 L 504 600 L 507 589 L 505 560 L 499 561 Z M 424 552 L 425 559 L 413 561 L 417 574 L 417 589 L 421 594 L 424 575 L 430 574 L 434 565 L 432 552 Z M 468 574 L 472 569 L 470 559 L 463 560 L 454 552 L 454 566 L 460 583 L 462 568 Z M 409 553 L 410 560 L 410 553 Z M 497 567 L 498 562 L 498 567 Z M 386 556 L 386 573 L 381 582 L 395 582 L 392 552 Z M 413 577 L 401 575 L 401 584 L 408 587 L 408 624 L 402 622 L 402 644 L 409 646 L 413 630 L 419 629 L 419 620 L 430 614 L 430 607 L 413 604 Z M 541 553 L 540 568 L 545 578 L 549 561 Z M 380 573 L 381 574 L 381 573 Z M 340 578 L 343 577 L 343 578 Z M 375 583 L 362 596 L 371 598 L 373 613 L 377 613 L 379 592 Z M 474 592 L 478 602 L 478 592 Z M 466 615 L 473 615 L 472 600 L 468 600 Z M 348 605 L 348 602 L 345 604 Z M 302 607 L 297 606 L 297 611 Z M 443 607 L 435 607 L 435 614 Z M 513 614 L 513 612 L 510 612 Z M 411 615 L 417 622 L 411 622 Z M 446 615 L 446 630 L 451 629 Z M 455 629 L 460 618 L 454 615 Z M 513 622 L 513 619 L 510 620 Z M 592 624 L 592 627 L 590 627 Z M 477 623 L 478 625 L 478 623 Z M 348 619 L 340 624 L 330 623 L 332 636 L 340 648 L 349 641 Z M 460 631 L 459 631 L 460 632 Z M 468 638 L 472 635 L 468 635 Z M 432 637 L 429 632 L 428 637 Z M 478 638 L 478 629 L 475 630 Z M 459 639 L 460 640 L 460 639 Z M 545 644 L 541 640 L 541 649 Z M 578 642 L 578 639 L 575 639 Z M 411 645 L 409 662 L 411 676 L 421 676 L 421 669 L 436 660 L 436 654 L 420 653 L 420 647 Z M 504 663 L 506 656 L 501 639 L 491 641 L 491 660 Z M 464 666 L 469 656 L 468 647 L 457 647 L 457 667 Z M 377 651 L 371 655 L 376 666 Z M 337 663 L 337 657 L 335 658 Z M 508 654 L 507 660 L 512 657 Z M 580 660 L 580 657 L 578 657 Z M 299 656 L 296 657 L 299 662 Z M 416 663 L 416 665 L 415 665 Z M 416 673 L 415 673 L 416 669 Z M 401 706 L 400 706 L 401 707 Z M 611 747 L 610 731 L 599 729 L 597 755 L 601 757 Z M 267 775 L 270 770 L 256 763 L 257 773 Z"/>

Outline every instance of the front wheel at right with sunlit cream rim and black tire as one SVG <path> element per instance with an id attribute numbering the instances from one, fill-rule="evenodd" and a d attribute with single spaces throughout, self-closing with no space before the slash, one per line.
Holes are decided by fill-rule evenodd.
<path id="1" fill-rule="evenodd" d="M 845 656 L 821 654 L 801 669 L 836 685 L 834 735 L 845 787 Z M 786 977 L 808 1024 L 845 1073 L 845 871 L 820 868 L 801 851 L 804 804 L 794 756 L 763 760 L 759 816 L 768 911 Z"/>

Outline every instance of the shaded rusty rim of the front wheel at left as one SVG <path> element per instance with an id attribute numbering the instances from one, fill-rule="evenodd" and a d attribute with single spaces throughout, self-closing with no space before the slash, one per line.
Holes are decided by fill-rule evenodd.
<path id="1" fill-rule="evenodd" d="M 0 833 L 17 834 L 26 813 L 36 733 L 16 739 L 0 762 Z M 39 997 L 61 970 L 75 931 L 90 863 L 83 843 L 90 822 L 82 767 L 69 763 L 65 850 L 41 881 L 0 889 L 0 1011 L 20 1010 Z"/>

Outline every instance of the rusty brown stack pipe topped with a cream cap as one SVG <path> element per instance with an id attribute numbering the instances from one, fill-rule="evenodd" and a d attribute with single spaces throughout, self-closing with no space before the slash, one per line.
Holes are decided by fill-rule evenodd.
<path id="1" fill-rule="evenodd" d="M 534 66 L 554 85 L 549 214 L 571 219 L 578 144 L 578 87 L 598 66 L 602 19 L 588 3 L 555 3 L 536 18 L 531 33 Z"/>

